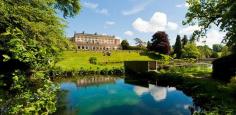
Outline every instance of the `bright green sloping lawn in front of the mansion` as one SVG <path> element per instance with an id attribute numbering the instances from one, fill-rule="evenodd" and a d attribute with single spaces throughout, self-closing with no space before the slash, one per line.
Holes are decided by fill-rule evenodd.
<path id="1" fill-rule="evenodd" d="M 96 65 L 89 63 L 90 57 L 96 57 Z M 124 61 L 153 60 L 148 56 L 142 56 L 139 51 L 112 51 L 111 56 L 103 56 L 102 52 L 96 51 L 65 51 L 61 61 L 56 66 L 62 70 L 101 70 L 112 68 L 123 68 Z M 107 62 L 107 63 L 106 63 Z"/>

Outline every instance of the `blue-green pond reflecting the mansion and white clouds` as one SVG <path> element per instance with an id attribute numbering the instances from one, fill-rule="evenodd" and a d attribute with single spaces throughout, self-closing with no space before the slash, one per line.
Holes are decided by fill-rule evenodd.
<path id="1" fill-rule="evenodd" d="M 56 114 L 190 115 L 193 99 L 175 87 L 129 78 L 89 77 L 59 82 Z M 192 109 L 191 109 L 192 108 Z"/>

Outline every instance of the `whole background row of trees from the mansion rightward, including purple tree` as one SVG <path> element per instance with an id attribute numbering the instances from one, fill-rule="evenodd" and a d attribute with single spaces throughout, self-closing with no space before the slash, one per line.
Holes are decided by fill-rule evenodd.
<path id="1" fill-rule="evenodd" d="M 163 31 L 156 32 L 147 43 L 139 38 L 135 38 L 134 40 L 136 46 L 130 46 L 127 40 L 123 40 L 121 42 L 122 49 L 154 51 L 170 55 L 175 59 L 220 58 L 231 54 L 230 49 L 222 44 L 214 44 L 212 48 L 208 45 L 197 46 L 196 40 L 193 37 L 188 39 L 187 35 L 184 35 L 182 38 L 180 35 L 177 35 L 175 44 L 171 46 L 168 34 Z"/>

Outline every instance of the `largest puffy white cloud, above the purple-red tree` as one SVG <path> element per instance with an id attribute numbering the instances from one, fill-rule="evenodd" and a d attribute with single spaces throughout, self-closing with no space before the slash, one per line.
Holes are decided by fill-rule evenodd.
<path id="1" fill-rule="evenodd" d="M 155 12 L 150 21 L 145 21 L 142 18 L 137 18 L 132 25 L 134 29 L 144 33 L 154 33 L 164 30 L 176 30 L 178 27 L 176 23 L 168 22 L 167 15 L 162 12 Z"/>

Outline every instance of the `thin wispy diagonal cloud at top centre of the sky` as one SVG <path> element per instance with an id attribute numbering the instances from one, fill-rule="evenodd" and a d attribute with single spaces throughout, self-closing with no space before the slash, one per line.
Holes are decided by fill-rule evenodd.
<path id="1" fill-rule="evenodd" d="M 123 11 L 122 14 L 125 16 L 137 14 L 137 13 L 143 11 L 152 1 L 154 1 L 154 0 L 146 0 L 143 3 L 135 5 L 133 8 L 131 8 L 129 10 Z"/>

